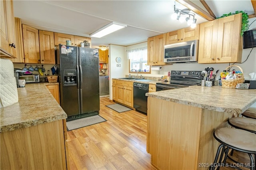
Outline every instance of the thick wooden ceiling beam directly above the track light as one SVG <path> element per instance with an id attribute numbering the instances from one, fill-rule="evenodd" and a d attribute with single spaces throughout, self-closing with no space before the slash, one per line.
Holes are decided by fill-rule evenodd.
<path id="1" fill-rule="evenodd" d="M 200 15 L 201 17 L 205 18 L 208 21 L 212 21 L 216 19 L 216 17 L 211 16 L 210 14 L 205 12 L 202 8 L 200 8 L 199 6 L 197 6 L 196 4 L 194 4 L 189 0 L 176 0 L 176 1 L 186 6 L 187 8 L 189 8 L 190 10 L 192 10 L 193 12 L 195 12 L 196 14 Z"/>

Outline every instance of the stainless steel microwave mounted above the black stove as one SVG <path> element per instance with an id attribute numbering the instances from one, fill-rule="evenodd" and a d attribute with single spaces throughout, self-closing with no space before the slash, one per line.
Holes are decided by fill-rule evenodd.
<path id="1" fill-rule="evenodd" d="M 197 61 L 198 40 L 164 45 L 164 62 Z"/>

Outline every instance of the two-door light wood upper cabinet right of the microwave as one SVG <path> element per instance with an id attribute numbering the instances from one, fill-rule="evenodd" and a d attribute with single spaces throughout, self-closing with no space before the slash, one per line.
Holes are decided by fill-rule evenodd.
<path id="1" fill-rule="evenodd" d="M 241 63 L 242 14 L 200 24 L 198 63 Z"/>

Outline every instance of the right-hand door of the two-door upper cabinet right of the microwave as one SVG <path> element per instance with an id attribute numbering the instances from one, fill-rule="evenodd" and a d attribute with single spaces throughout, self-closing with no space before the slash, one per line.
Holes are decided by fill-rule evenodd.
<path id="1" fill-rule="evenodd" d="M 218 19 L 216 63 L 241 62 L 241 18 L 242 14 L 236 14 Z"/>

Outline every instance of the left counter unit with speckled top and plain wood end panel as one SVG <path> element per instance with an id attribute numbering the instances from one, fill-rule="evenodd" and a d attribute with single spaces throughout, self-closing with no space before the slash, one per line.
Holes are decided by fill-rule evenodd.
<path id="1" fill-rule="evenodd" d="M 66 113 L 45 83 L 26 83 L 18 97 L 0 109 L 0 169 L 67 169 Z"/>

